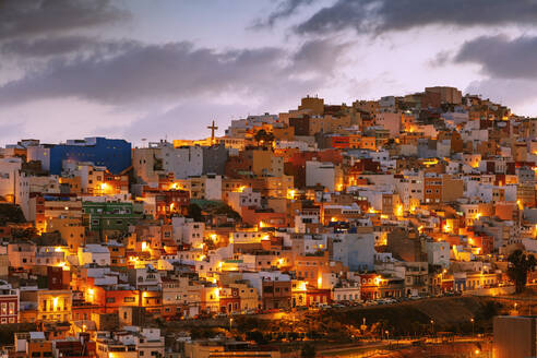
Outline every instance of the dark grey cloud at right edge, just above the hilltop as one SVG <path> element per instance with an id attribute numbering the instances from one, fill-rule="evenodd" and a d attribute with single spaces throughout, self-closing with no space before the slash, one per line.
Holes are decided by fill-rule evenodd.
<path id="1" fill-rule="evenodd" d="M 457 63 L 476 63 L 498 79 L 537 79 L 537 37 L 481 36 L 464 43 Z"/>

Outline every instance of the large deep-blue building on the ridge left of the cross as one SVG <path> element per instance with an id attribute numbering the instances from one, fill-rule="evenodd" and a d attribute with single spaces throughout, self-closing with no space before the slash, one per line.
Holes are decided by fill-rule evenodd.
<path id="1" fill-rule="evenodd" d="M 28 151 L 28 159 L 31 157 L 40 160 L 43 168 L 51 175 L 60 175 L 61 164 L 68 159 L 105 166 L 111 174 L 117 175 L 131 166 L 131 143 L 126 140 L 86 138 L 67 141 L 64 144 L 39 145 Z"/>

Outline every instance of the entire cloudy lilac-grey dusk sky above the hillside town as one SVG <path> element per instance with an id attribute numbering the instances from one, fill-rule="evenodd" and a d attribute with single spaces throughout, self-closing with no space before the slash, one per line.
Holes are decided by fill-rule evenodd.
<path id="1" fill-rule="evenodd" d="M 0 0 L 0 145 L 449 85 L 537 116 L 537 0 Z"/>

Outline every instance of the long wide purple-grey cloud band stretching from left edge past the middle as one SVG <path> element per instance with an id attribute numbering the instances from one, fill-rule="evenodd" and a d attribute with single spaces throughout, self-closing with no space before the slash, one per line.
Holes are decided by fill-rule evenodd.
<path id="1" fill-rule="evenodd" d="M 75 97 L 126 105 L 201 95 L 261 95 L 275 86 L 317 88 L 343 53 L 341 45 L 329 41 L 307 41 L 296 52 L 275 47 L 217 51 L 189 41 L 118 41 L 107 46 L 115 51 L 52 58 L 38 70 L 0 86 L 0 103 Z M 310 75 L 303 79 L 303 74 Z"/>

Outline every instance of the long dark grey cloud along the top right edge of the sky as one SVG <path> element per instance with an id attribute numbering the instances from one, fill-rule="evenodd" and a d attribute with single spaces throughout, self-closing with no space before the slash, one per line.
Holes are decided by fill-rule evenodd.
<path id="1" fill-rule="evenodd" d="M 405 31 L 426 25 L 494 26 L 537 22 L 532 0 L 337 0 L 300 23 L 300 34 L 347 28 L 357 33 Z"/>

